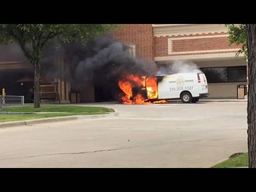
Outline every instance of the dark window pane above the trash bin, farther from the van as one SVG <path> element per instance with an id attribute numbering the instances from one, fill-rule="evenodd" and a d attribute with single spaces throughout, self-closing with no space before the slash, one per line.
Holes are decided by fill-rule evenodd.
<path id="1" fill-rule="evenodd" d="M 246 66 L 228 67 L 228 82 L 245 82 Z"/>

